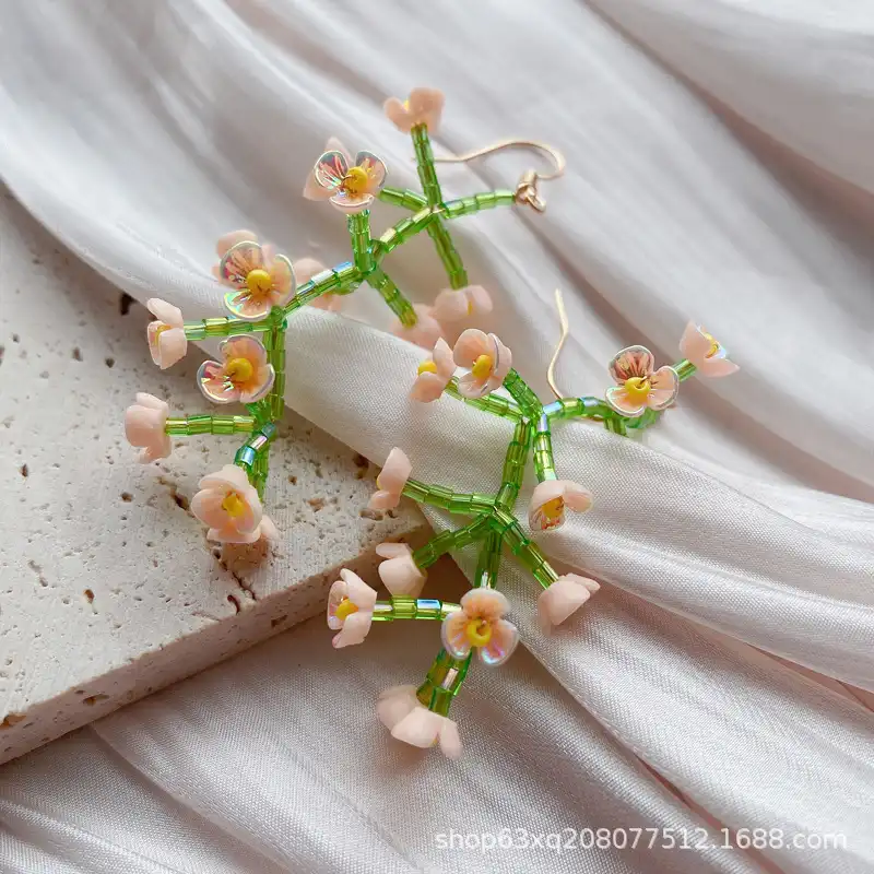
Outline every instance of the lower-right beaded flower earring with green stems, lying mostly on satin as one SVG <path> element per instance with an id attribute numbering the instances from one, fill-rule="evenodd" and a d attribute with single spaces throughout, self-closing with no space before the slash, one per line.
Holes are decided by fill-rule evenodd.
<path id="1" fill-rule="evenodd" d="M 562 397 L 554 369 L 567 335 L 567 320 L 560 295 L 556 296 L 563 333 L 550 365 L 550 385 L 556 395 L 552 403 L 542 403 L 512 368 L 510 350 L 495 334 L 475 329 L 464 331 L 451 350 L 438 340 L 430 358 L 420 365 L 410 392 L 414 401 L 425 403 L 448 394 L 512 424 L 497 493 L 458 493 L 413 480 L 408 457 L 401 449 L 392 449 L 377 479 L 371 508 L 395 507 L 401 496 L 406 496 L 470 521 L 435 535 L 417 550 L 398 543 L 377 547 L 385 559 L 379 576 L 389 591 L 388 600 L 377 600 L 376 591 L 347 569 L 341 570 L 329 595 L 328 626 L 338 631 L 334 647 L 361 643 L 374 622 L 440 623 L 442 647 L 422 685 L 394 686 L 383 692 L 377 712 L 393 737 L 418 747 L 439 745 L 450 758 L 461 755 L 461 740 L 458 727 L 449 719 L 449 708 L 461 689 L 473 653 L 486 665 L 503 664 L 519 640 L 516 626 L 505 618 L 509 603 L 497 591 L 501 551 L 506 548 L 516 556 L 543 588 L 538 617 L 544 631 L 565 622 L 599 589 L 593 579 L 559 575 L 513 515 L 529 456 L 538 485 L 529 503 L 528 528 L 534 532 L 552 531 L 565 523 L 567 510 L 586 512 L 592 506 L 592 496 L 586 488 L 558 477 L 553 458 L 554 423 L 584 418 L 627 436 L 629 430 L 639 432 L 654 424 L 676 400 L 680 383 L 695 373 L 722 377 L 739 369 L 717 340 L 690 322 L 680 342 L 684 356 L 680 362 L 657 368 L 648 349 L 628 346 L 610 363 L 616 385 L 607 388 L 603 398 Z M 456 367 L 468 373 L 456 378 Z M 506 394 L 497 393 L 498 389 Z M 460 603 L 420 598 L 427 568 L 446 553 L 471 544 L 479 544 L 480 556 L 472 589 Z"/>

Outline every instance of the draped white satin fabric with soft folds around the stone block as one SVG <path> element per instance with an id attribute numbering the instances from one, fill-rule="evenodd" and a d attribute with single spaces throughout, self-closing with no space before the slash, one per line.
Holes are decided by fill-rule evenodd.
<path id="1" fill-rule="evenodd" d="M 688 317 L 743 367 L 684 383 L 642 441 L 555 429 L 559 475 L 595 505 L 538 540 L 605 584 L 544 638 L 533 582 L 505 562 L 528 651 L 472 671 L 453 708 L 460 763 L 399 747 L 374 716 L 381 688 L 418 682 L 436 628 L 379 627 L 338 653 L 310 623 L 5 768 L 3 870 L 874 869 L 874 10 L 2 7 L 0 173 L 140 300 L 220 315 L 212 247 L 237 226 L 295 258 L 346 260 L 344 221 L 302 200 L 305 174 L 336 134 L 385 156 L 391 185 L 414 185 L 410 142 L 380 104 L 427 84 L 447 94 L 438 151 L 520 135 L 568 157 L 545 215 L 450 227 L 497 300 L 489 324 L 543 397 L 556 286 L 574 328 L 559 367 L 569 393 L 603 391 L 630 342 L 675 359 Z M 511 187 L 531 161 L 440 177 L 449 196 Z M 379 208 L 374 226 L 400 217 Z M 444 283 L 426 240 L 385 265 L 420 300 Z M 347 311 L 377 327 L 295 319 L 288 403 L 377 461 L 403 447 L 417 479 L 494 488 L 508 425 L 451 399 L 413 406 L 421 350 L 378 329 L 389 317 L 375 292 Z M 435 838 L 707 824 L 847 846 L 670 850 L 660 838 L 481 854 Z"/>

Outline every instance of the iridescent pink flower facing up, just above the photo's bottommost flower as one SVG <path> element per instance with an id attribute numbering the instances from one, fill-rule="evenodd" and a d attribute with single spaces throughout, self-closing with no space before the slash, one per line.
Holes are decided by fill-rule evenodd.
<path id="1" fill-rule="evenodd" d="M 501 618 L 510 609 L 494 589 L 472 589 L 461 599 L 461 610 L 444 619 L 440 634 L 446 651 L 464 659 L 475 649 L 485 664 L 504 664 L 519 642 L 517 627 Z"/>

